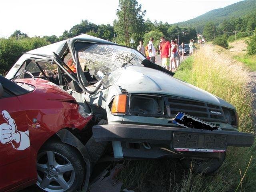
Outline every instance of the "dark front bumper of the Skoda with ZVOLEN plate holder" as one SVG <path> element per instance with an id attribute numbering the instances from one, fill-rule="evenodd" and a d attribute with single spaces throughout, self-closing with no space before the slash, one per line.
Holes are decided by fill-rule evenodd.
<path id="1" fill-rule="evenodd" d="M 111 141 L 115 158 L 213 157 L 227 146 L 249 147 L 254 136 L 236 131 L 209 131 L 190 128 L 110 124 L 92 128 L 96 142 Z M 178 151 L 180 148 L 215 149 Z M 208 151 L 208 150 L 205 150 Z"/>

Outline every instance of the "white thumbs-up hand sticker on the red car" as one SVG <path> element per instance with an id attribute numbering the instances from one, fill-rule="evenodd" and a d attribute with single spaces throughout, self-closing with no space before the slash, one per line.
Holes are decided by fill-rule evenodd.
<path id="1" fill-rule="evenodd" d="M 7 111 L 2 111 L 6 123 L 0 125 L 0 142 L 2 144 L 12 144 L 17 150 L 25 150 L 30 146 L 29 132 L 19 131 L 14 119 Z"/>

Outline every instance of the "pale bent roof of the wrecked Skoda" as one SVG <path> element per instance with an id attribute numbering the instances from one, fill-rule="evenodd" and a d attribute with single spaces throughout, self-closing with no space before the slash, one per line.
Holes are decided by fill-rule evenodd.
<path id="1" fill-rule="evenodd" d="M 70 40 L 71 42 L 74 40 L 77 40 L 77 41 L 85 41 L 85 42 L 92 42 L 92 43 L 115 44 L 113 42 L 109 42 L 94 36 L 81 34 L 79 36 L 76 36 L 67 40 L 63 40 L 60 42 L 56 42 L 50 45 L 46 45 L 46 46 L 28 51 L 27 54 L 42 54 L 42 55 L 50 55 L 50 56 L 53 56 L 53 52 L 55 52 L 56 54 L 59 54 L 63 46 L 66 44 L 68 40 Z"/>

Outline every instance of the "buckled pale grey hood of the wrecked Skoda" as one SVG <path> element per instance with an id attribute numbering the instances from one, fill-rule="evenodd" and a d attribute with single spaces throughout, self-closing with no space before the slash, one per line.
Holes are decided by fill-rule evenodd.
<path id="1" fill-rule="evenodd" d="M 128 66 L 122 68 L 120 73 L 115 84 L 129 93 L 163 94 L 234 109 L 234 106 L 221 98 L 158 70 Z"/>

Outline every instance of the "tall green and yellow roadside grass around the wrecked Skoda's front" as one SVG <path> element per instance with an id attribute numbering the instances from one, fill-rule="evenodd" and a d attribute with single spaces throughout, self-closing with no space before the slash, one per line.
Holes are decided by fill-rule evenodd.
<path id="1" fill-rule="evenodd" d="M 255 113 L 251 106 L 251 88 L 247 86 L 248 71 L 220 49 L 218 46 L 202 46 L 182 62 L 175 77 L 233 104 L 240 115 L 239 130 L 254 132 Z M 255 157 L 255 143 L 250 148 L 229 147 L 222 166 L 208 176 L 184 170 L 174 159 L 127 161 L 120 179 L 124 183 L 123 188 L 136 192 L 256 191 Z"/>

